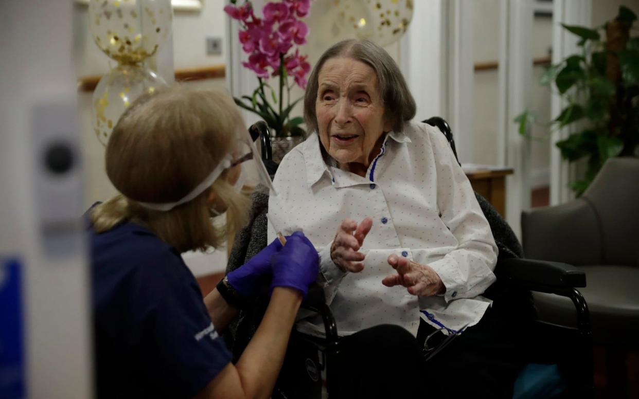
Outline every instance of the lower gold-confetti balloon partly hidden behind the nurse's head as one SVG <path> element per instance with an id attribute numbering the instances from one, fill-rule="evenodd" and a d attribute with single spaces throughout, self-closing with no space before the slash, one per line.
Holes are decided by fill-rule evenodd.
<path id="1" fill-rule="evenodd" d="M 104 75 L 93 92 L 93 132 L 105 146 L 113 126 L 127 107 L 143 93 L 166 86 L 157 73 L 139 65 L 118 65 Z"/>

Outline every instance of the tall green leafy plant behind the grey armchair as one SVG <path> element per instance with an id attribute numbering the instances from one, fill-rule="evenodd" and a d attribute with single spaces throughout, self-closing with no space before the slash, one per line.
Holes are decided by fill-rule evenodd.
<path id="1" fill-rule="evenodd" d="M 637 19 L 620 6 L 619 15 L 604 26 L 562 26 L 580 37 L 580 54 L 549 66 L 541 76 L 543 86 L 554 84 L 566 107 L 550 121 L 551 128 L 576 124 L 577 131 L 557 142 L 562 158 L 576 162 L 587 158 L 583 179 L 571 188 L 581 195 L 603 163 L 614 156 L 637 156 L 639 143 L 639 36 L 631 37 Z M 515 118 L 519 132 L 531 137 L 537 116 L 529 110 Z M 552 131 L 552 130 L 551 130 Z"/>

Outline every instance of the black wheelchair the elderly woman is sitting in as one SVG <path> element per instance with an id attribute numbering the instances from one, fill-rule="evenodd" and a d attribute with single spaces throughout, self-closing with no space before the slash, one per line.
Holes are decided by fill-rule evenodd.
<path id="1" fill-rule="evenodd" d="M 449 124 L 441 117 L 431 117 L 424 122 L 440 129 L 457 157 Z M 259 140 L 263 160 L 269 173 L 274 175 L 277 165 L 272 161 L 270 135 L 266 123 L 258 122 L 252 125 L 249 132 L 254 140 Z M 240 232 L 239 235 L 243 234 L 243 239 L 235 241 L 227 271 L 241 266 L 245 260 L 266 246 L 265 213 L 268 197 L 264 197 L 266 196 L 256 201 L 261 204 L 256 209 L 254 207 L 252 223 Z M 512 233 L 488 201 L 480 195 L 477 195 L 477 199 L 491 223 L 493 233 L 496 229 L 507 229 Z M 260 231 L 261 234 L 258 234 Z M 256 238 L 258 236 L 259 238 Z M 514 253 L 504 250 L 502 256 L 500 248 L 500 258 L 495 267 L 500 287 L 496 287 L 496 290 L 514 290 L 527 293 L 528 296 L 530 291 L 535 291 L 568 297 L 574 304 L 577 320 L 576 327 L 558 326 L 541 320 L 531 322 L 530 331 L 527 333 L 530 337 L 530 347 L 526 352 L 526 358 L 530 359 L 530 363 L 523 367 L 515 381 L 513 398 L 592 397 L 594 381 L 590 315 L 587 303 L 578 290 L 586 285 L 585 274 L 568 264 L 523 259 L 520 243 L 514 234 L 511 236 L 514 239 L 511 243 Z M 254 248 L 247 251 L 247 246 L 250 246 L 250 241 L 253 240 L 259 240 L 259 243 L 253 242 Z M 530 298 L 532 301 L 532 296 Z M 241 312 L 240 319 L 231 324 L 231 333 L 227 334 L 226 338 L 236 358 L 254 333 L 267 303 L 268 299 L 258 299 L 254 306 L 250 306 L 248 312 Z M 335 324 L 319 285 L 311 287 L 302 307 L 321 315 L 325 336 L 318 338 L 306 335 L 294 327 L 273 398 L 324 398 L 334 394 L 330 365 L 339 361 L 339 326 Z"/>

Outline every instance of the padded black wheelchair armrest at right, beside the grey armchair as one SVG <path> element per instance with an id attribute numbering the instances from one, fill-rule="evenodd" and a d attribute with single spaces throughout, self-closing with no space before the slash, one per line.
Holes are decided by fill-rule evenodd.
<path id="1" fill-rule="evenodd" d="M 586 275 L 576 267 L 559 262 L 534 259 L 502 259 L 497 263 L 498 279 L 527 289 L 555 293 L 586 286 Z"/>

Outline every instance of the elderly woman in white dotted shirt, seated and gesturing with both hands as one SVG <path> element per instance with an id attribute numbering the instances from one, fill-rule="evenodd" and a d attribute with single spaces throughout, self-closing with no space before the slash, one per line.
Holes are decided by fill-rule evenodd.
<path id="1" fill-rule="evenodd" d="M 411 384 L 429 395 L 512 397 L 526 312 L 484 296 L 498 255 L 489 223 L 446 138 L 412 122 L 397 64 L 371 41 L 335 44 L 311 73 L 304 116 L 312 133 L 282 160 L 268 209 L 282 233 L 302 230 L 318 249 L 318 283 L 345 337 L 334 373 L 342 381 L 331 383 L 359 394 Z M 382 324 L 403 327 L 419 347 L 426 336 L 428 349 L 447 347 L 415 366 L 419 380 L 371 378 L 361 368 L 379 368 L 384 355 L 358 336 Z M 310 317 L 298 329 L 321 335 L 323 325 Z M 373 345 L 387 339 L 374 335 Z M 389 362 L 402 358 L 385 370 L 399 366 Z"/>

